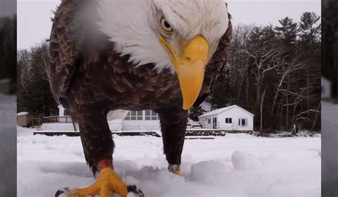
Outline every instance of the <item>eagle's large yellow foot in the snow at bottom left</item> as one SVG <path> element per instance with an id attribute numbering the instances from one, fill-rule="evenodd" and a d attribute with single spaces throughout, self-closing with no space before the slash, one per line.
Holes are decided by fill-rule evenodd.
<path id="1" fill-rule="evenodd" d="M 68 197 L 86 197 L 98 194 L 101 197 L 111 197 L 112 193 L 118 193 L 121 197 L 126 197 L 128 194 L 127 186 L 113 171 L 113 168 L 103 168 L 96 183 L 87 188 L 75 189 L 68 193 Z"/>

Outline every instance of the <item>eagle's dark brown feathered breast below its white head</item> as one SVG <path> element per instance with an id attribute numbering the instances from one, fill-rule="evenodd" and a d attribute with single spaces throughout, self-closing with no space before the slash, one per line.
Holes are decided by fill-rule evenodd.
<path id="1" fill-rule="evenodd" d="M 177 76 L 170 69 L 158 72 L 154 64 L 135 66 L 113 48 L 84 54 L 78 66 L 70 94 L 81 94 L 86 101 L 128 110 L 182 102 Z"/>

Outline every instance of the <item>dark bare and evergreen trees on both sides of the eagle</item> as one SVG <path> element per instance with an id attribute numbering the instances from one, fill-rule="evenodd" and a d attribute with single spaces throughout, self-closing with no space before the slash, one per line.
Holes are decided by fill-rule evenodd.
<path id="1" fill-rule="evenodd" d="M 234 28 L 225 69 L 207 100 L 212 108 L 237 104 L 255 114 L 265 133 L 320 129 L 319 16 L 305 12 L 297 23 Z M 18 110 L 39 116 L 57 113 L 44 69 L 48 42 L 18 52 Z M 197 119 L 201 107 L 190 110 Z"/>

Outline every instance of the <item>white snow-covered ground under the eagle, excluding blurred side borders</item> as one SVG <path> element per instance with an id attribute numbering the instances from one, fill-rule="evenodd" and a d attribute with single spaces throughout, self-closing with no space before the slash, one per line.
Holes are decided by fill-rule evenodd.
<path id="1" fill-rule="evenodd" d="M 18 128 L 18 196 L 53 196 L 94 182 L 79 137 L 33 136 Z M 114 164 L 146 197 L 320 196 L 320 137 L 262 138 L 228 134 L 186 140 L 181 170 L 167 170 L 162 139 L 114 136 Z"/>

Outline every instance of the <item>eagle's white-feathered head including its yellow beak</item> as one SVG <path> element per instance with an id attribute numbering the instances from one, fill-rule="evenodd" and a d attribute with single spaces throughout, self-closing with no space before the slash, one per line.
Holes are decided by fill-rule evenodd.
<path id="1" fill-rule="evenodd" d="M 203 84 L 205 65 L 228 28 L 224 0 L 100 0 L 101 31 L 135 66 L 178 75 L 183 108 Z M 192 81 L 194 83 L 192 83 Z M 195 88 L 191 88 L 197 84 Z"/>

